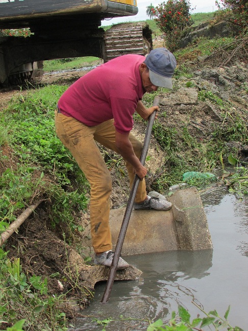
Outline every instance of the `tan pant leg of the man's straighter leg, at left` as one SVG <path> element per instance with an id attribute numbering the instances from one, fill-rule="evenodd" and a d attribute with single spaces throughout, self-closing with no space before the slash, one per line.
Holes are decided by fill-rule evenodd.
<path id="1" fill-rule="evenodd" d="M 92 246 L 96 253 L 112 249 L 109 228 L 112 181 L 93 134 L 96 127 L 88 127 L 61 113 L 55 114 L 56 133 L 69 149 L 90 183 L 90 227 Z"/>

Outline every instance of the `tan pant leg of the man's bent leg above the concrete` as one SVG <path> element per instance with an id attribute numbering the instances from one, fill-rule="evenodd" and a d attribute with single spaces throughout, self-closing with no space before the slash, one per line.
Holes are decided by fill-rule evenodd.
<path id="1" fill-rule="evenodd" d="M 115 151 L 116 153 L 119 153 L 115 145 L 115 127 L 113 125 L 113 120 L 98 125 L 97 130 L 94 133 L 94 139 L 103 146 L 111 149 L 112 151 Z M 140 141 L 137 138 L 135 138 L 135 136 L 132 133 L 129 134 L 129 139 L 133 145 L 135 155 L 138 158 L 140 158 L 143 144 L 140 143 Z M 132 164 L 130 164 L 127 160 L 125 160 L 125 163 L 128 171 L 130 188 L 132 188 L 135 173 Z M 145 180 L 143 179 L 139 183 L 138 190 L 135 196 L 135 202 L 144 201 L 145 198 L 146 198 L 146 186 L 145 186 Z"/>

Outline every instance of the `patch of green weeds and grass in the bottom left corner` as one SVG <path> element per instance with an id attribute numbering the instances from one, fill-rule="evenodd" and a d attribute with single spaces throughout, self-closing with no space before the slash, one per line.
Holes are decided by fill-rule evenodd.
<path id="1" fill-rule="evenodd" d="M 35 275 L 27 279 L 21 272 L 19 259 L 11 262 L 7 254 L 0 248 L 0 319 L 5 323 L 8 316 L 8 323 L 13 324 L 7 330 L 30 329 L 35 325 L 37 331 L 65 331 L 65 314 L 59 310 L 64 296 L 48 296 L 47 280 Z M 23 319 L 19 320 L 20 317 Z"/>

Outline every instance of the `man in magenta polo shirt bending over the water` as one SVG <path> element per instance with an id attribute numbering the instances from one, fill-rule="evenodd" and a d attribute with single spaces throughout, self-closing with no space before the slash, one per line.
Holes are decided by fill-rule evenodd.
<path id="1" fill-rule="evenodd" d="M 125 160 L 130 186 L 140 178 L 134 209 L 168 210 L 171 203 L 146 195 L 146 168 L 140 163 L 142 144 L 130 131 L 135 111 L 144 119 L 159 108 L 146 108 L 145 92 L 158 86 L 172 88 L 176 59 L 167 49 L 141 55 L 123 55 L 102 64 L 73 83 L 61 96 L 55 112 L 56 133 L 90 183 L 90 227 L 97 265 L 111 266 L 109 228 L 112 180 L 95 141 Z M 117 268 L 129 265 L 121 257 Z"/>

